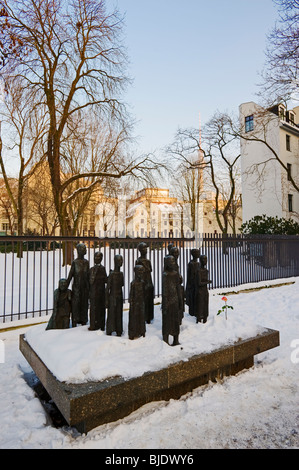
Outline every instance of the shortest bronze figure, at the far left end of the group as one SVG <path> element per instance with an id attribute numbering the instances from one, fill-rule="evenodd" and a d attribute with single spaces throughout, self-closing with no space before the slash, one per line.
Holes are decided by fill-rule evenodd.
<path id="1" fill-rule="evenodd" d="M 68 289 L 66 279 L 60 279 L 58 289 L 54 291 L 53 313 L 46 330 L 65 330 L 70 327 L 72 309 L 72 291 Z"/>

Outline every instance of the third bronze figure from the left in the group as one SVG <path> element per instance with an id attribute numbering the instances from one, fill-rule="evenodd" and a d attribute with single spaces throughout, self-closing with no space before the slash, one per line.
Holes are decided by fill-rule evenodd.
<path id="1" fill-rule="evenodd" d="M 94 254 L 94 266 L 89 270 L 89 330 L 105 330 L 106 321 L 106 269 L 102 266 L 103 253 Z"/>

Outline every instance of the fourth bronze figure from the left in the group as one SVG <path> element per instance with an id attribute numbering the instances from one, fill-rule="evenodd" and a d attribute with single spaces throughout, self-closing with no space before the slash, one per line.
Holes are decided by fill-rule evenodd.
<path id="1" fill-rule="evenodd" d="M 123 285 L 124 275 L 120 268 L 123 264 L 121 255 L 114 256 L 114 270 L 110 271 L 107 281 L 108 315 L 106 334 L 116 332 L 117 336 L 123 333 Z"/>

